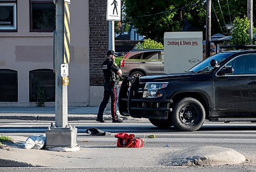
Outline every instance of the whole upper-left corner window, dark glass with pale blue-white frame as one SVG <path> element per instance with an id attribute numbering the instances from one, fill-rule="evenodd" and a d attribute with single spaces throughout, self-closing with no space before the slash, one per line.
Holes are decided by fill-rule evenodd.
<path id="1" fill-rule="evenodd" d="M 16 1 L 0 0 L 0 31 L 17 30 Z"/>

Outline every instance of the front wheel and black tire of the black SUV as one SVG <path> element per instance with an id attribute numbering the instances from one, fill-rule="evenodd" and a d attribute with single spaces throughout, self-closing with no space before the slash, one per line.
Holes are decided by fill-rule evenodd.
<path id="1" fill-rule="evenodd" d="M 176 129 L 180 131 L 196 131 L 204 123 L 205 110 L 198 100 L 186 97 L 175 104 L 172 118 Z"/>

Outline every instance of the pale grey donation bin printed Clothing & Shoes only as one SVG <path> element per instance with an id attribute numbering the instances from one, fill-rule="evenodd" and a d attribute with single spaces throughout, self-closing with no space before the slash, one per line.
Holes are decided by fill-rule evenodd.
<path id="1" fill-rule="evenodd" d="M 187 71 L 202 60 L 202 32 L 164 33 L 164 73 Z"/>

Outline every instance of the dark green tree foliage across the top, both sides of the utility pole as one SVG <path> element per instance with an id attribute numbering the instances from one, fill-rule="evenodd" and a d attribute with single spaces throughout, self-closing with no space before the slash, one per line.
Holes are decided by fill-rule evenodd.
<path id="1" fill-rule="evenodd" d="M 125 2 L 126 23 L 130 22 L 138 29 L 138 33 L 146 38 L 163 42 L 164 32 L 175 31 L 202 31 L 205 36 L 206 2 L 204 0 L 122 1 Z M 230 35 L 231 21 L 247 14 L 247 1 L 219 0 L 211 3 L 214 7 L 211 8 L 211 35 L 217 33 Z M 253 14 L 256 14 L 255 8 Z M 253 16 L 254 21 L 255 16 Z M 225 24 L 230 27 L 226 27 Z"/>

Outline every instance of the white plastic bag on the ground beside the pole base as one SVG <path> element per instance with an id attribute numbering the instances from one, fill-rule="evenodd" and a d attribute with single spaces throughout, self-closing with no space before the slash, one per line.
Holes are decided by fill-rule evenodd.
<path id="1" fill-rule="evenodd" d="M 24 148 L 25 149 L 36 149 L 39 150 L 45 145 L 45 136 L 29 136 L 25 141 Z"/>

